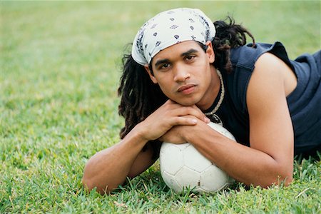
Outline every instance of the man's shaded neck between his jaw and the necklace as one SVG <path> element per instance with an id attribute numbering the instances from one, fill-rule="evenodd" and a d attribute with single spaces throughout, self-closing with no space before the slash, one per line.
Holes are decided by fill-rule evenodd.
<path id="1" fill-rule="evenodd" d="M 220 78 L 218 77 L 218 73 L 216 71 L 216 68 L 214 66 L 211 66 L 212 71 L 212 80 L 210 81 L 210 86 L 208 87 L 208 90 L 205 92 L 202 100 L 197 103 L 198 108 L 200 110 L 205 111 L 210 106 L 212 106 L 213 102 L 215 101 L 215 98 L 219 96 L 220 91 Z"/>

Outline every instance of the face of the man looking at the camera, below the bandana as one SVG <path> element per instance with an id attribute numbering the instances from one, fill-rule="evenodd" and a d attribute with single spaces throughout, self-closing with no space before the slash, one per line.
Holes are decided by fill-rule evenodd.
<path id="1" fill-rule="evenodd" d="M 172 101 L 183 106 L 196 104 L 202 110 L 210 108 L 220 83 L 210 65 L 214 62 L 212 44 L 209 41 L 206 45 L 205 52 L 195 41 L 175 44 L 153 57 L 153 74 L 145 66 L 153 83 L 158 83 Z"/>

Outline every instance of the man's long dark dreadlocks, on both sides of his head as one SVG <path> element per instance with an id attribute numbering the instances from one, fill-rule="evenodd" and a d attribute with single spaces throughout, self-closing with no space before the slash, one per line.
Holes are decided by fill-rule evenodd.
<path id="1" fill-rule="evenodd" d="M 233 70 L 230 49 L 244 46 L 246 34 L 253 40 L 253 47 L 255 47 L 255 39 L 247 29 L 235 24 L 230 16 L 225 20 L 215 21 L 214 26 L 216 34 L 212 41 L 215 53 L 213 65 L 220 71 L 230 73 Z M 118 96 L 121 97 L 118 113 L 125 118 L 125 126 L 120 133 L 121 138 L 124 138 L 136 124 L 147 118 L 168 99 L 158 84 L 151 81 L 145 68 L 133 60 L 131 54 L 123 56 L 123 74 Z"/>

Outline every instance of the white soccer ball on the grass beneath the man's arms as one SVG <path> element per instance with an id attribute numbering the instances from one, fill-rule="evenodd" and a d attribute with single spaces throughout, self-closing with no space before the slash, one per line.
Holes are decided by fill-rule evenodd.
<path id="1" fill-rule="evenodd" d="M 208 125 L 235 141 L 234 136 L 216 123 Z M 160 152 L 161 175 L 165 184 L 175 193 L 194 190 L 198 193 L 213 193 L 222 190 L 235 180 L 211 163 L 192 144 L 163 142 Z"/>

